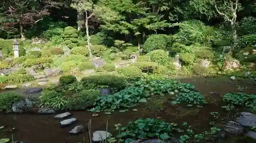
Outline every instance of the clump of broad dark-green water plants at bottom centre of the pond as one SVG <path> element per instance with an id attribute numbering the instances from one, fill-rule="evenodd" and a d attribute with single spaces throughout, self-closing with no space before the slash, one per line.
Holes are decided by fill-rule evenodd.
<path id="1" fill-rule="evenodd" d="M 170 138 L 170 132 L 178 131 L 176 123 L 166 123 L 161 119 L 138 119 L 134 122 L 129 122 L 126 127 L 121 128 L 121 133 L 117 137 L 132 137 L 139 139 L 147 139 L 159 137 L 166 140 Z"/>

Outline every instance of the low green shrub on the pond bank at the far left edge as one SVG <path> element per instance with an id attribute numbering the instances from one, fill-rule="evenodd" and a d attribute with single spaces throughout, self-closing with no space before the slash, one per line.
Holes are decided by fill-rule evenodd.
<path id="1" fill-rule="evenodd" d="M 15 92 L 1 93 L 0 94 L 0 111 L 11 112 L 12 104 L 22 100 L 22 96 Z"/>

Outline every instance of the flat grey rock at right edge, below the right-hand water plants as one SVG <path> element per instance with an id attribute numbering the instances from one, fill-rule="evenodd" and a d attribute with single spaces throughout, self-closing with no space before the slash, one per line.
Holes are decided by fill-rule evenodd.
<path id="1" fill-rule="evenodd" d="M 236 121 L 242 126 L 256 126 L 256 115 L 250 112 L 241 112 L 241 116 L 236 118 Z"/>

